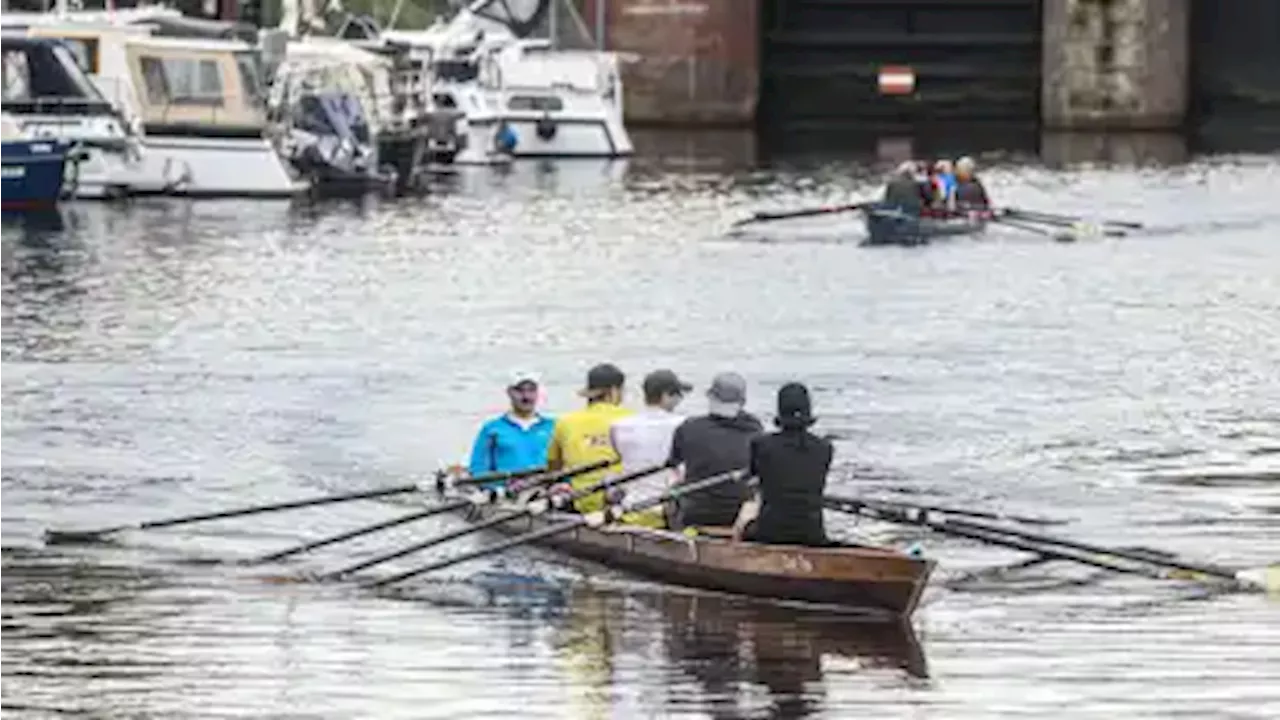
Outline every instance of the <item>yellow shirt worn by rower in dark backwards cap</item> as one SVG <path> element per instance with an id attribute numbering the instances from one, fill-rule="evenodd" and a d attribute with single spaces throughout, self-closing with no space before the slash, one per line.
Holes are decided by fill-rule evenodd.
<path id="1" fill-rule="evenodd" d="M 593 402 L 581 410 L 566 413 L 556 418 L 552 441 L 547 446 L 547 464 L 550 468 L 576 468 L 600 460 L 612 460 L 608 468 L 584 473 L 570 480 L 575 491 L 603 480 L 622 471 L 617 450 L 609 439 L 609 428 L 620 418 L 631 415 L 631 410 L 612 402 Z M 604 493 L 591 495 L 573 502 L 579 512 L 598 512 L 604 510 Z"/>

